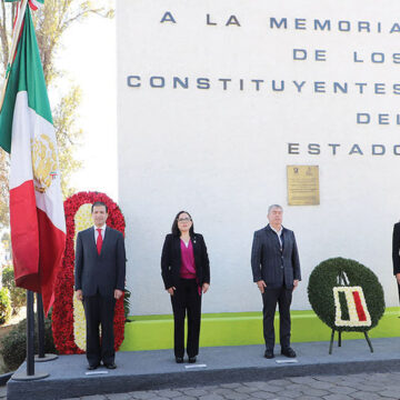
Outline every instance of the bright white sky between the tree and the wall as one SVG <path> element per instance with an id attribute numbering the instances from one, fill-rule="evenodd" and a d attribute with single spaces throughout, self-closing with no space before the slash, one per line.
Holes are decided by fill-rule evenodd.
<path id="1" fill-rule="evenodd" d="M 71 26 L 56 62 L 64 71 L 59 89 L 74 83 L 82 90 L 77 126 L 83 136 L 77 158 L 83 168 L 71 184 L 118 201 L 116 19 L 91 16 Z"/>

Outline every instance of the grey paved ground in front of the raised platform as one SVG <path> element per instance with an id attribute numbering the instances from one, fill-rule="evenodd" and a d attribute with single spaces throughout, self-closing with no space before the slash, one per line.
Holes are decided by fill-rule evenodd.
<path id="1" fill-rule="evenodd" d="M 287 378 L 266 382 L 86 396 L 68 400 L 399 400 L 400 372 Z"/>

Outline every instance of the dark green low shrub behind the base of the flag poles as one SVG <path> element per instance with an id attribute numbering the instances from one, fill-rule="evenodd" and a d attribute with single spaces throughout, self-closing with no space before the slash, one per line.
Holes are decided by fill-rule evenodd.
<path id="1" fill-rule="evenodd" d="M 34 314 L 34 352 L 38 353 L 38 323 Z M 14 371 L 27 358 L 27 320 L 22 320 L 1 340 L 1 356 L 8 371 Z M 44 352 L 56 353 L 51 319 L 44 319 Z"/>

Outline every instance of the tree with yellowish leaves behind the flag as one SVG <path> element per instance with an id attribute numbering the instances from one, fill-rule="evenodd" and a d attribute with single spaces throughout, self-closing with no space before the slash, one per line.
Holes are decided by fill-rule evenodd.
<path id="1" fill-rule="evenodd" d="M 0 0 L 0 73 L 4 74 L 11 46 L 11 27 L 17 4 Z M 44 6 L 33 13 L 40 57 L 43 64 L 48 89 L 56 86 L 64 76 L 54 64 L 54 57 L 60 50 L 62 36 L 73 23 L 80 22 L 91 14 L 106 18 L 113 17 L 110 0 L 44 0 Z M 81 167 L 81 161 L 73 156 L 82 130 L 76 126 L 77 110 L 80 103 L 80 89 L 77 86 L 62 93 L 52 108 L 59 161 L 61 169 L 61 188 L 64 197 L 73 192 L 70 187 L 71 174 Z M 0 150 L 0 227 L 8 226 L 8 156 Z"/>

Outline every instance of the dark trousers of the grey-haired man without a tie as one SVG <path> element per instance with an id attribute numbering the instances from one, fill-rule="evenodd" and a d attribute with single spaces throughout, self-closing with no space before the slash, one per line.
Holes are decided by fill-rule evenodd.
<path id="1" fill-rule="evenodd" d="M 292 299 L 292 289 L 266 288 L 262 293 L 262 313 L 263 313 L 263 336 L 266 348 L 273 350 L 274 329 L 273 319 L 279 304 L 279 337 L 281 348 L 290 347 L 290 303 Z"/>

